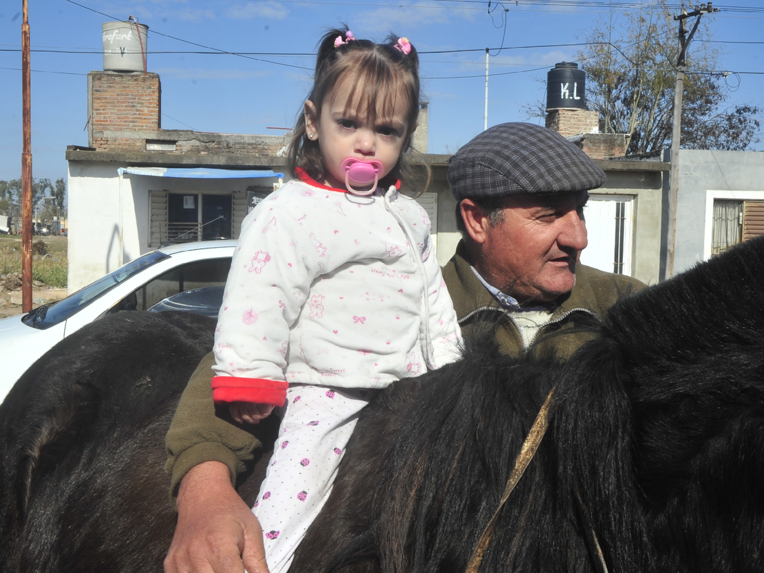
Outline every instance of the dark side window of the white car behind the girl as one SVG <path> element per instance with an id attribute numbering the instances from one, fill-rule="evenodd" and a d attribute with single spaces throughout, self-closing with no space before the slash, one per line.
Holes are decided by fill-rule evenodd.
<path id="1" fill-rule="evenodd" d="M 194 261 L 168 270 L 125 296 L 109 313 L 121 310 L 147 310 L 160 301 L 187 290 L 225 286 L 231 257 Z"/>

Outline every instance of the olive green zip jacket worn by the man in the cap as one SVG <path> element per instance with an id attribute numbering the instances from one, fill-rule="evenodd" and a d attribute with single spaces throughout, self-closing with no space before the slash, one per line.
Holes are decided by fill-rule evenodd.
<path id="1" fill-rule="evenodd" d="M 454 301 L 462 333 L 469 336 L 481 319 L 506 319 L 498 325 L 496 339 L 500 350 L 511 355 L 523 352 L 520 330 L 512 313 L 503 309 L 474 275 L 466 258 L 464 241 L 456 254 L 443 267 L 443 278 Z M 643 283 L 630 277 L 604 273 L 591 267 L 576 267 L 575 287 L 562 298 L 552 318 L 536 336 L 537 346 L 549 348 L 567 358 L 584 342 L 594 337 L 581 328 L 604 316 L 607 309 L 623 296 L 643 288 Z M 261 445 L 258 433 L 267 432 L 266 425 L 240 426 L 228 416 L 227 408 L 215 408 L 212 402 L 212 353 L 202 359 L 183 395 L 167 432 L 167 465 L 170 474 L 170 501 L 175 504 L 180 480 L 193 466 L 204 461 L 220 461 L 228 466 L 231 482 L 244 471 L 245 463 L 254 458 Z"/>

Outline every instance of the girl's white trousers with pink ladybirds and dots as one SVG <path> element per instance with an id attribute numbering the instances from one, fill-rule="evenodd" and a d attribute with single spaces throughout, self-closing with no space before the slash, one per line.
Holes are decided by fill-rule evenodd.
<path id="1" fill-rule="evenodd" d="M 252 511 L 270 573 L 285 573 L 332 491 L 358 413 L 374 390 L 290 384 L 279 437 Z"/>

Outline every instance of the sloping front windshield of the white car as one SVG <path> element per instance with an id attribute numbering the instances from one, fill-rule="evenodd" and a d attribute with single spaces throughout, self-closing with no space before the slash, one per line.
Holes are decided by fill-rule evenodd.
<path id="1" fill-rule="evenodd" d="M 108 293 L 109 290 L 112 290 L 123 280 L 127 280 L 134 274 L 141 272 L 141 270 L 151 267 L 152 264 L 157 264 L 159 261 L 163 261 L 167 258 L 170 258 L 170 255 L 160 253 L 159 251 L 144 254 L 143 257 L 139 257 L 134 261 L 119 267 L 113 273 L 101 277 L 94 283 L 90 283 L 88 286 L 83 287 L 76 293 L 67 296 L 65 299 L 60 300 L 57 303 L 37 307 L 37 309 L 34 309 L 21 320 L 24 324 L 31 326 L 34 329 L 49 329 L 51 326 L 57 325 L 59 322 L 68 319 L 75 312 L 79 311 L 79 309 L 88 306 L 92 301 L 99 298 L 99 296 Z"/>

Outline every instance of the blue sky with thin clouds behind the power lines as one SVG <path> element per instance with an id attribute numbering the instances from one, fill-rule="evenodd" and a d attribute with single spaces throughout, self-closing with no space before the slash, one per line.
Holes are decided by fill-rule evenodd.
<path id="1" fill-rule="evenodd" d="M 421 53 L 423 96 L 430 102 L 429 151 L 449 153 L 483 129 L 486 47 L 500 47 L 503 40 L 509 48 L 491 52 L 490 73 L 500 75 L 490 76 L 488 124 L 526 121 L 522 107 L 544 97 L 546 71 L 575 59 L 578 47 L 559 44 L 583 42 L 585 31 L 610 10 L 622 18 L 651 5 L 650 0 L 512 0 L 492 2 L 498 9 L 489 14 L 488 2 L 478 0 L 28 2 L 33 49 L 73 52 L 31 54 L 37 70 L 31 79 L 34 176 L 50 179 L 66 176 L 66 145 L 87 144 L 86 74 L 102 70 L 101 24 L 112 19 L 95 11 L 117 19 L 135 15 L 149 26 L 148 70 L 161 76 L 163 128 L 224 133 L 280 134 L 267 127 L 292 126 L 309 90 L 314 58 L 151 52 L 310 54 L 324 29 L 341 22 L 356 37 L 380 40 L 395 31 Z M 714 44 L 722 52 L 718 69 L 741 72 L 728 77 L 730 102 L 764 107 L 764 2 L 735 2 L 727 7 L 714 2 L 722 11 L 704 21 L 720 42 Z M 760 43 L 727 43 L 741 41 Z M 0 180 L 21 173 L 21 53 L 14 51 L 20 47 L 21 0 L 2 0 Z M 422 53 L 471 49 L 478 51 Z"/>

